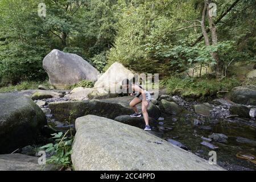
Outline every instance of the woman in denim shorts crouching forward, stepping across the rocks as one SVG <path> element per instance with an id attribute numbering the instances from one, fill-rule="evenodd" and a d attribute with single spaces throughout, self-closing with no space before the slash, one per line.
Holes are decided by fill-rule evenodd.
<path id="1" fill-rule="evenodd" d="M 134 110 L 134 114 L 131 114 L 131 117 L 141 117 L 141 113 L 138 112 L 138 109 L 136 107 L 137 104 L 142 102 L 141 110 L 144 117 L 144 121 L 146 123 L 146 126 L 144 130 L 150 131 L 151 128 L 148 125 L 148 114 L 147 114 L 147 107 L 150 103 L 151 96 L 150 93 L 147 92 L 147 90 L 144 90 L 141 85 L 138 84 L 131 84 L 128 79 L 125 79 L 122 81 L 122 88 L 127 89 L 129 91 L 133 92 L 130 93 L 130 96 L 135 96 L 135 98 L 130 102 L 130 107 Z"/>

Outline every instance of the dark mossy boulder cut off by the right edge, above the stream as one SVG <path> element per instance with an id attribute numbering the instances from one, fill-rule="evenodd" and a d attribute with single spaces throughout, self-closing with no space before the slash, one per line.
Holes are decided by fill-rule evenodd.
<path id="1" fill-rule="evenodd" d="M 237 86 L 228 93 L 228 98 L 243 105 L 256 105 L 256 86 Z"/>

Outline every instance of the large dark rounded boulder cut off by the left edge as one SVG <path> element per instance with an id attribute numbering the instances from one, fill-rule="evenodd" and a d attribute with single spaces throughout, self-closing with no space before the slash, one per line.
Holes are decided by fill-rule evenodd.
<path id="1" fill-rule="evenodd" d="M 0 154 L 32 144 L 40 129 L 47 124 L 46 116 L 31 98 L 0 94 Z"/>

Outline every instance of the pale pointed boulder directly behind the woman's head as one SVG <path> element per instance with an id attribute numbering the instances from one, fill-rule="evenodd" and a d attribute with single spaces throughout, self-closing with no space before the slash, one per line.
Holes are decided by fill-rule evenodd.
<path id="1" fill-rule="evenodd" d="M 121 93 L 122 80 L 131 80 L 135 73 L 125 68 L 121 63 L 113 63 L 109 69 L 96 81 L 94 88 L 104 88 L 107 92 Z"/>

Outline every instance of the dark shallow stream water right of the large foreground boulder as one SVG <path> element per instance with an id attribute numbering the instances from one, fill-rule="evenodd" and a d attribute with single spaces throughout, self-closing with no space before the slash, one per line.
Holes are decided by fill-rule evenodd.
<path id="1" fill-rule="evenodd" d="M 172 127 L 171 131 L 159 131 L 157 127 L 153 132 L 163 139 L 174 139 L 184 144 L 189 151 L 204 159 L 209 159 L 209 151 L 211 148 L 200 144 L 203 142 L 201 137 L 208 138 L 212 133 L 221 133 L 228 136 L 227 143 L 210 142 L 218 149 L 217 164 L 229 170 L 256 170 L 256 151 L 254 144 L 242 144 L 236 141 L 237 137 L 243 137 L 256 140 L 256 131 L 254 126 L 250 126 L 250 121 L 245 119 L 214 119 L 211 121 L 205 118 L 204 125 L 193 126 L 193 114 L 183 116 L 163 115 L 164 121 L 160 123 L 164 127 Z M 243 159 L 239 157 L 243 157 Z M 248 160 L 250 159 L 250 160 Z"/>

